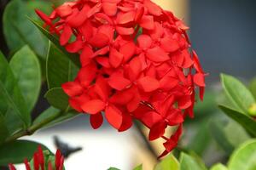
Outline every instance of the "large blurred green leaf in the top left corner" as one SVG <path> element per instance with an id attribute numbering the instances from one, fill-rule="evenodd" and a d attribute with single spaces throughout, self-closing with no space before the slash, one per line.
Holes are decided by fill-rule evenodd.
<path id="1" fill-rule="evenodd" d="M 33 3 L 33 2 L 29 2 Z M 12 51 L 28 44 L 40 57 L 45 56 L 47 41 L 36 26 L 26 19 L 26 15 L 35 18 L 33 8 L 20 0 L 10 1 L 3 13 L 3 33 Z"/>

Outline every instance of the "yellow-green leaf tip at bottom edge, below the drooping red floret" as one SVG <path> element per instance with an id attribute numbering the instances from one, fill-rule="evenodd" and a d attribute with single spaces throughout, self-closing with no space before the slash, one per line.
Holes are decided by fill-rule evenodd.
<path id="1" fill-rule="evenodd" d="M 160 163 L 154 167 L 154 170 L 179 170 L 179 168 L 179 162 L 172 154 L 170 154 L 160 161 Z"/>

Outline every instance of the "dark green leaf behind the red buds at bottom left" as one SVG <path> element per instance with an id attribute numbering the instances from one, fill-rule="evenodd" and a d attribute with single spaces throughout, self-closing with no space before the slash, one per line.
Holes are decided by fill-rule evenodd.
<path id="1" fill-rule="evenodd" d="M 0 146 L 0 166 L 21 163 L 25 158 L 30 160 L 38 149 L 38 145 L 41 145 L 44 150 L 47 149 L 42 144 L 28 140 L 16 140 L 9 144 L 3 144 Z"/>

